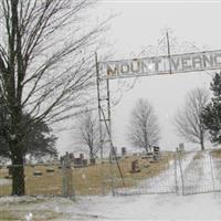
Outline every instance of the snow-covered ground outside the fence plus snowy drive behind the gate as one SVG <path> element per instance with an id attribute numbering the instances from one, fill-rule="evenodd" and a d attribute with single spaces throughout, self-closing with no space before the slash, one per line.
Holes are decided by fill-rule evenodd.
<path id="1" fill-rule="evenodd" d="M 196 158 L 194 158 L 196 157 Z M 220 185 L 220 160 L 208 152 L 188 154 L 181 164 L 186 193 L 207 191 Z M 212 169 L 212 175 L 211 175 Z M 164 180 L 175 171 L 173 162 L 149 183 Z M 219 176 L 218 176 L 219 175 Z M 178 186 L 180 173 L 178 171 Z M 140 182 L 141 186 L 143 182 Z M 173 178 L 168 187 L 173 187 Z M 149 188 L 154 186 L 150 185 Z M 221 192 L 182 196 L 181 191 L 166 194 L 82 197 L 76 202 L 64 198 L 0 198 L 2 220 L 221 220 Z M 8 217 L 7 217 L 8 215 Z M 10 217 L 11 215 L 11 217 Z M 0 217 L 1 220 L 1 217 Z"/>

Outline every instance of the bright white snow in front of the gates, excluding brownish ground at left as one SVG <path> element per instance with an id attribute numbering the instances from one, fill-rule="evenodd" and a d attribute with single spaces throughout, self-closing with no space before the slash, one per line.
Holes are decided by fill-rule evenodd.
<path id="1" fill-rule="evenodd" d="M 80 202 L 78 211 L 106 219 L 221 219 L 220 194 L 196 196 L 134 196 L 96 198 L 91 202 Z M 87 208 L 87 209 L 86 209 Z M 86 210 L 85 210 L 86 209 Z"/>

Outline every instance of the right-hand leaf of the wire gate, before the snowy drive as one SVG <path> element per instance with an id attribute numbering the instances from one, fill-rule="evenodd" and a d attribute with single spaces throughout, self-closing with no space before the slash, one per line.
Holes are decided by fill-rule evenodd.
<path id="1" fill-rule="evenodd" d="M 180 164 L 180 171 L 183 177 L 183 194 L 221 191 L 221 158 L 219 151 L 183 152 Z"/>

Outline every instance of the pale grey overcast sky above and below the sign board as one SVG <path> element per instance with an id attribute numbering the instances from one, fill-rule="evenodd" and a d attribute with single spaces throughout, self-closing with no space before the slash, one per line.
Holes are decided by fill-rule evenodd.
<path id="1" fill-rule="evenodd" d="M 172 30 L 171 39 L 176 38 L 180 45 L 188 41 L 200 50 L 221 50 L 220 12 L 221 2 L 218 1 L 101 0 L 93 10 L 97 18 L 117 14 L 110 22 L 110 29 L 105 33 L 105 41 L 110 45 L 115 60 L 131 59 L 148 45 L 157 46 L 167 28 Z M 102 53 L 98 52 L 99 57 Z M 128 92 L 123 86 L 123 97 L 112 109 L 114 145 L 129 146 L 126 139 L 129 114 L 135 102 L 144 97 L 152 104 L 159 117 L 161 149 L 175 149 L 185 140 L 177 136 L 171 123 L 172 117 L 183 105 L 189 91 L 196 87 L 209 88 L 211 76 L 212 72 L 200 72 L 140 77 Z M 112 90 L 116 90 L 116 81 L 110 82 Z M 65 131 L 59 140 L 59 149 L 72 151 L 70 144 L 70 133 Z M 196 147 L 191 144 L 186 146 Z"/>

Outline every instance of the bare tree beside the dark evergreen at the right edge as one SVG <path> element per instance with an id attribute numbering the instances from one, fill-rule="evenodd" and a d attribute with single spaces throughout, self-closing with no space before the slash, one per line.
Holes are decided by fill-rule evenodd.
<path id="1" fill-rule="evenodd" d="M 209 92 L 196 88 L 187 94 L 185 106 L 175 116 L 178 134 L 187 141 L 200 144 L 204 149 L 207 130 L 202 122 L 202 110 L 209 102 Z"/>

